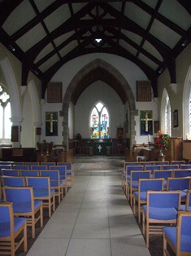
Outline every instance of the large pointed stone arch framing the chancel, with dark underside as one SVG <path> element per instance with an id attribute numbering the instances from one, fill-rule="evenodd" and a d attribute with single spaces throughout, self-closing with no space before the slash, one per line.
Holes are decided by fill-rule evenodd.
<path id="1" fill-rule="evenodd" d="M 101 80 L 106 82 L 108 86 L 111 86 L 119 98 L 122 100 L 123 104 L 128 103 L 128 108 L 130 109 L 130 145 L 135 141 L 135 116 L 138 114 L 135 109 L 135 99 L 132 94 L 131 87 L 129 86 L 127 80 L 124 76 L 119 73 L 119 70 L 114 68 L 111 64 L 104 60 L 96 59 L 81 68 L 76 76 L 73 77 L 72 82 L 70 82 L 67 87 L 66 93 L 63 97 L 63 145 L 67 147 L 68 145 L 68 108 L 70 102 L 76 104 L 77 99 L 80 94 L 93 82 Z"/>

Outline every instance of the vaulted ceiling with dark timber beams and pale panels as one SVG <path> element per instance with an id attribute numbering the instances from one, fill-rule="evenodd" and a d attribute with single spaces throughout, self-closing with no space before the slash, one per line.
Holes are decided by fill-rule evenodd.
<path id="1" fill-rule="evenodd" d="M 0 24 L 0 42 L 23 64 L 22 85 L 32 71 L 45 92 L 67 61 L 109 53 L 137 64 L 156 96 L 157 78 L 166 68 L 176 82 L 176 57 L 191 41 L 191 2 L 0 0 Z M 98 79 L 102 72 L 95 72 Z"/>

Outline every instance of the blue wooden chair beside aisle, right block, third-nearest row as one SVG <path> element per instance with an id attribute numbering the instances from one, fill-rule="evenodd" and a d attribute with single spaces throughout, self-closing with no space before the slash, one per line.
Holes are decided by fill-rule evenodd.
<path id="1" fill-rule="evenodd" d="M 146 204 L 147 190 L 163 191 L 164 179 L 139 179 L 138 190 L 133 192 L 133 213 L 138 213 L 138 222 L 141 223 L 141 205 Z"/>

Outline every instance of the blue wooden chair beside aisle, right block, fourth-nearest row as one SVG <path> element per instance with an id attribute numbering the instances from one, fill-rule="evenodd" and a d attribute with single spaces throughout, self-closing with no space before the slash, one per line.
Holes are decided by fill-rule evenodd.
<path id="1" fill-rule="evenodd" d="M 126 195 L 130 200 L 130 205 L 132 205 L 132 193 L 138 190 L 139 179 L 150 179 L 150 170 L 132 170 L 130 174 L 130 180 L 128 181 Z"/>

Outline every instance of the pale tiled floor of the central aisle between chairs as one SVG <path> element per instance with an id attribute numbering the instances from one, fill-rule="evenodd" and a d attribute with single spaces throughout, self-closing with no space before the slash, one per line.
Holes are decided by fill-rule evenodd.
<path id="1" fill-rule="evenodd" d="M 80 158 L 81 159 L 81 158 Z M 108 158 L 107 158 L 108 159 Z M 98 161 L 98 159 L 94 159 Z M 119 168 L 79 170 L 75 185 L 42 230 L 28 256 L 147 256 L 149 250 L 121 188 Z M 106 161 L 102 159 L 101 161 Z"/>

